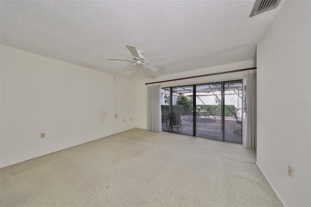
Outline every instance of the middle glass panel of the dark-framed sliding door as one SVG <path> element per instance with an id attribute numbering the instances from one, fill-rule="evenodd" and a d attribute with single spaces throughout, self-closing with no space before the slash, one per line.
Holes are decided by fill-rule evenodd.
<path id="1" fill-rule="evenodd" d="M 222 84 L 196 86 L 196 136 L 223 140 Z"/>

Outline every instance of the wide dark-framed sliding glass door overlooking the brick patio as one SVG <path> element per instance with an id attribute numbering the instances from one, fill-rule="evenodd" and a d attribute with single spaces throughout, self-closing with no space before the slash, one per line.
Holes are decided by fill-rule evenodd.
<path id="1" fill-rule="evenodd" d="M 161 90 L 162 131 L 242 143 L 242 80 Z"/>

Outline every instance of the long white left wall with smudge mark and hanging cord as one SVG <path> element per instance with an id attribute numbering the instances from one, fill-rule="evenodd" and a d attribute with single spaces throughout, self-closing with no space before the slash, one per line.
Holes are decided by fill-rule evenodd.
<path id="1" fill-rule="evenodd" d="M 113 84 L 104 72 L 1 45 L 0 166 L 134 128 L 134 82 L 115 83 L 118 119 Z"/>

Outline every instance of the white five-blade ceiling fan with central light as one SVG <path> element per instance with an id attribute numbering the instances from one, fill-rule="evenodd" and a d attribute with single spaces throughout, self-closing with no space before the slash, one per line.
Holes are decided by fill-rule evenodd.
<path id="1" fill-rule="evenodd" d="M 167 60 L 166 56 L 159 56 L 159 57 L 149 57 L 149 58 L 145 58 L 142 54 L 142 51 L 138 51 L 136 50 L 135 46 L 133 45 L 126 45 L 127 49 L 132 53 L 132 55 L 134 56 L 133 59 L 119 59 L 119 58 L 107 58 L 107 60 L 121 60 L 121 61 L 131 61 L 133 62 L 133 64 L 131 64 L 128 67 L 128 71 L 131 71 L 134 69 L 134 65 L 141 65 L 147 69 L 150 69 L 154 72 L 158 71 L 159 69 L 155 68 L 152 64 L 156 64 L 156 63 L 162 63 L 164 61 Z"/>

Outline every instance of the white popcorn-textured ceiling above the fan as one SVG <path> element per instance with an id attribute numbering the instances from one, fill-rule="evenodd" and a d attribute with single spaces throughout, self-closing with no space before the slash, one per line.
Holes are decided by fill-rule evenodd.
<path id="1" fill-rule="evenodd" d="M 119 74 L 132 59 L 166 55 L 157 72 L 137 66 L 130 79 L 255 58 L 256 42 L 284 3 L 249 17 L 255 0 L 1 0 L 1 44 L 86 68 Z"/>

